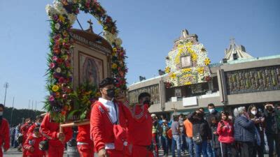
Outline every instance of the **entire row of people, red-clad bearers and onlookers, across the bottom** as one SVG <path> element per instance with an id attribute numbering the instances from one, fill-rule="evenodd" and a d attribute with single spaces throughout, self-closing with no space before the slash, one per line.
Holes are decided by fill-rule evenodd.
<path id="1" fill-rule="evenodd" d="M 237 107 L 233 112 L 216 110 L 210 103 L 208 111 L 200 107 L 188 115 L 173 114 L 172 119 L 151 114 L 151 95 L 139 95 L 139 103 L 129 105 L 125 96 L 115 94 L 112 78 L 99 84 L 102 97 L 87 114 L 90 121 L 78 126 L 73 136 L 71 127 L 60 127 L 47 113 L 34 122 L 12 127 L 3 119 L 0 105 L 0 144 L 3 151 L 18 147 L 23 157 L 62 157 L 65 144 L 76 139 L 80 156 L 94 157 L 262 157 L 267 144 L 269 157 L 280 157 L 280 106 L 267 103 Z M 232 113 L 232 114 L 231 114 Z M 1 149 L 2 150 L 2 149 Z M 0 157 L 3 156 L 0 151 Z"/>

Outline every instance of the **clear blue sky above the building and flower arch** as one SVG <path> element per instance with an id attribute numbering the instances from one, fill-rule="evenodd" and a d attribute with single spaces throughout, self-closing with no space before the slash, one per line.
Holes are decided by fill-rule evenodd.
<path id="1" fill-rule="evenodd" d="M 253 57 L 280 54 L 279 0 L 97 0 L 117 20 L 119 36 L 127 50 L 127 82 L 158 75 L 165 57 L 181 31 L 196 33 L 212 63 L 221 61 L 235 38 Z M 29 100 L 43 107 L 46 54 L 50 25 L 45 6 L 50 0 L 0 1 L 0 103 L 28 108 Z M 94 32 L 102 27 L 92 15 L 80 13 L 83 29 L 91 19 Z M 74 24 L 73 28 L 80 28 Z M 31 108 L 31 105 L 30 105 Z"/>

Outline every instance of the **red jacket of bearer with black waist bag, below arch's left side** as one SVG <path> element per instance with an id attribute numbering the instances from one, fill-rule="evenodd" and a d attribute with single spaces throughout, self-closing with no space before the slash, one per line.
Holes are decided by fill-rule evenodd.
<path id="1" fill-rule="evenodd" d="M 68 142 L 73 134 L 73 131 L 71 128 L 63 128 L 63 133 L 65 135 L 65 141 L 62 143 L 57 138 L 57 133 L 59 133 L 59 124 L 55 123 L 55 121 L 52 121 L 50 119 L 50 114 L 46 114 L 41 127 L 40 127 L 40 133 L 43 135 L 44 139 L 49 140 L 49 144 L 52 147 L 64 147 L 65 142 Z"/>

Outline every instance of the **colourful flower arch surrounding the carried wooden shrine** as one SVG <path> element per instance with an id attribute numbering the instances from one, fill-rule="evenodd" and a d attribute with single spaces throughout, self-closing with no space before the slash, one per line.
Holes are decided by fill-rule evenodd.
<path id="1" fill-rule="evenodd" d="M 93 15 L 104 30 L 104 38 L 111 43 L 112 75 L 116 79 L 116 91 L 127 90 L 125 75 L 127 66 L 125 63 L 125 50 L 121 46 L 122 40 L 118 38 L 116 21 L 106 14 L 106 10 L 99 2 L 94 0 L 60 0 L 53 5 L 47 5 L 45 10 L 50 19 L 50 53 L 48 54 L 47 85 L 49 96 L 45 100 L 45 110 L 52 114 L 57 122 L 66 121 L 66 113 L 71 110 L 73 100 L 83 103 L 82 116 L 85 118 L 87 108 L 94 98 L 98 97 L 97 87 L 83 85 L 73 91 L 71 49 L 73 41 L 69 31 L 76 21 L 80 10 Z M 81 100 L 83 99 L 83 100 Z"/>

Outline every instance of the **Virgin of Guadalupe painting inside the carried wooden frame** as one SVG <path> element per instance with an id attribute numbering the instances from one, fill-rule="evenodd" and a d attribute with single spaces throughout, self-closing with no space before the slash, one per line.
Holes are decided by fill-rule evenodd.
<path id="1" fill-rule="evenodd" d="M 98 85 L 103 78 L 103 61 L 90 55 L 79 53 L 80 83 Z"/>

